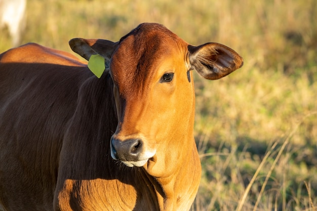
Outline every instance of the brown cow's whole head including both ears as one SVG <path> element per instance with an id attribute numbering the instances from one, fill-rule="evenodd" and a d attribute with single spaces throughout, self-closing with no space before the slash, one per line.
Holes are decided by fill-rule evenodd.
<path id="1" fill-rule="evenodd" d="M 153 23 L 139 25 L 116 43 L 75 38 L 70 46 L 87 60 L 94 54 L 104 57 L 112 77 L 118 125 L 111 157 L 128 166 L 158 166 L 156 174 L 194 146 L 191 70 L 213 80 L 243 65 L 226 46 L 194 47 Z"/>

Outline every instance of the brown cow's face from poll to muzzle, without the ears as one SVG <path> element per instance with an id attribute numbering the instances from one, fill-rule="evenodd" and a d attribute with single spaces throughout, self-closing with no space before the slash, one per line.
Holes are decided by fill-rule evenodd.
<path id="1" fill-rule="evenodd" d="M 143 166 L 191 123 L 186 46 L 161 25 L 140 25 L 121 39 L 110 63 L 119 122 L 111 139 L 114 159 Z"/>

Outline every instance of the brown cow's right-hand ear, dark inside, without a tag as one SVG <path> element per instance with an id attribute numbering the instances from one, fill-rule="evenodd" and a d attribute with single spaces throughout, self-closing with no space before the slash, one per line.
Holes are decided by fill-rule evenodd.
<path id="1" fill-rule="evenodd" d="M 207 43 L 188 46 L 189 62 L 200 75 L 209 80 L 222 78 L 242 67 L 243 58 L 221 44 Z"/>

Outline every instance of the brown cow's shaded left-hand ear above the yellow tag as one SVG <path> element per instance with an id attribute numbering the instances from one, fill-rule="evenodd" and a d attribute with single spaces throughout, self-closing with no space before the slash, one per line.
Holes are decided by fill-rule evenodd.
<path id="1" fill-rule="evenodd" d="M 105 39 L 73 38 L 69 40 L 69 46 L 73 52 L 81 55 L 86 60 L 89 60 L 91 55 L 99 54 L 107 62 L 118 46 L 118 42 L 113 43 Z"/>

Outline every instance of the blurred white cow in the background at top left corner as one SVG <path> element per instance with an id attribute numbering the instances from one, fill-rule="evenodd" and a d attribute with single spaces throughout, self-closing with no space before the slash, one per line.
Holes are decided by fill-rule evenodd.
<path id="1" fill-rule="evenodd" d="M 0 0 L 0 28 L 8 28 L 12 46 L 21 41 L 21 33 L 25 28 L 26 0 Z"/>

